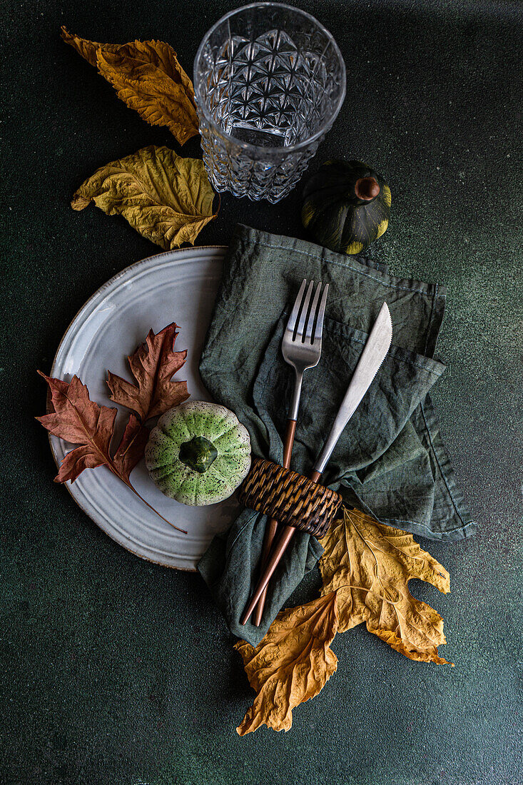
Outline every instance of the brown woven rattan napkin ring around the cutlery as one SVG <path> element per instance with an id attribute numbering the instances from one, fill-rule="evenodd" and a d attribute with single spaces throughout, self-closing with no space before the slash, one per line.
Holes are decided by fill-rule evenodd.
<path id="1" fill-rule="evenodd" d="M 342 503 L 336 491 L 263 458 L 253 458 L 238 498 L 257 513 L 318 538 L 327 534 Z"/>

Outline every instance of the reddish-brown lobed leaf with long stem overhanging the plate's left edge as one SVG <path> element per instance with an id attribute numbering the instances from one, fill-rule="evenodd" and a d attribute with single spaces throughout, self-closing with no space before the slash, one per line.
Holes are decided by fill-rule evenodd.
<path id="1" fill-rule="evenodd" d="M 130 482 L 130 473 L 144 455 L 149 431 L 130 414 L 126 429 L 115 454 L 111 455 L 111 441 L 115 429 L 116 409 L 99 406 L 90 400 L 89 390 L 77 376 L 71 382 L 52 378 L 38 371 L 47 384 L 51 393 L 51 407 L 53 411 L 37 417 L 44 428 L 53 436 L 78 444 L 74 450 L 68 452 L 61 462 L 55 482 L 64 483 L 67 480 L 74 482 L 84 469 L 96 469 L 97 466 L 107 466 L 115 476 L 119 477 L 141 501 L 163 518 L 144 498 L 134 489 Z M 163 518 L 167 524 L 169 520 Z M 174 526 L 174 524 L 170 524 Z M 187 534 L 183 529 L 177 528 Z"/>

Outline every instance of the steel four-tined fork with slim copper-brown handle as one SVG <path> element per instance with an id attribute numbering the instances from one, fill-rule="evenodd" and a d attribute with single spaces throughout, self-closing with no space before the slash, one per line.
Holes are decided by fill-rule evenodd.
<path id="1" fill-rule="evenodd" d="M 287 327 L 283 334 L 283 341 L 281 343 L 283 360 L 294 368 L 294 373 L 296 374 L 291 407 L 289 408 L 289 414 L 287 416 L 287 430 L 283 442 L 283 466 L 286 469 L 289 469 L 291 466 L 294 433 L 296 433 L 296 421 L 298 420 L 300 396 L 302 395 L 303 374 L 308 368 L 313 368 L 317 365 L 321 356 L 321 335 L 324 328 L 325 302 L 327 301 L 329 285 L 328 283 L 325 285 L 322 294 L 322 283 L 318 283 L 311 303 L 313 289 L 314 281 L 311 281 L 309 286 L 307 286 L 306 279 L 303 279 L 302 286 L 298 291 L 298 296 L 294 301 L 294 308 L 291 311 L 291 316 L 289 316 Z M 277 520 L 269 520 L 269 523 L 265 528 L 265 539 L 262 550 L 262 570 L 269 558 L 277 527 Z M 266 593 L 267 588 L 265 588 L 262 593 L 254 611 L 254 624 L 256 626 L 259 626 L 262 621 Z"/>

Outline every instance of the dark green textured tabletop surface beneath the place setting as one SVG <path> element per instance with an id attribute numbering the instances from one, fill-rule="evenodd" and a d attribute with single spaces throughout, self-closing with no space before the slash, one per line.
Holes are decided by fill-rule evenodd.
<path id="1" fill-rule="evenodd" d="M 434 388 L 476 538 L 422 542 L 452 593 L 412 585 L 444 616 L 455 668 L 411 663 L 363 627 L 287 735 L 234 728 L 252 692 L 198 575 L 148 564 L 62 487 L 36 367 L 123 266 L 155 253 L 123 219 L 68 206 L 82 179 L 145 144 L 172 144 L 58 38 L 163 38 L 190 70 L 234 2 L 13 2 L 2 14 L 2 729 L 9 785 L 497 785 L 521 783 L 521 6 L 302 2 L 333 31 L 348 97 L 313 166 L 383 173 L 396 275 L 446 283 Z M 192 16 L 189 16 L 192 14 Z M 199 143 L 185 145 L 198 155 Z M 222 199 L 200 243 L 236 221 L 304 236 L 299 194 Z M 314 580 L 314 577 L 309 580 Z M 299 601 L 299 592 L 294 597 Z M 521 664 L 521 661 L 520 661 Z M 518 714 L 519 713 L 519 714 Z"/>

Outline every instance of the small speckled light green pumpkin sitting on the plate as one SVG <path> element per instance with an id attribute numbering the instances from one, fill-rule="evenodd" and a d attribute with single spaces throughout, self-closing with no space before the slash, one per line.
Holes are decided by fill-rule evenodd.
<path id="1" fill-rule="evenodd" d="M 204 400 L 166 411 L 145 447 L 152 481 L 182 504 L 222 502 L 251 468 L 251 440 L 234 412 Z"/>

